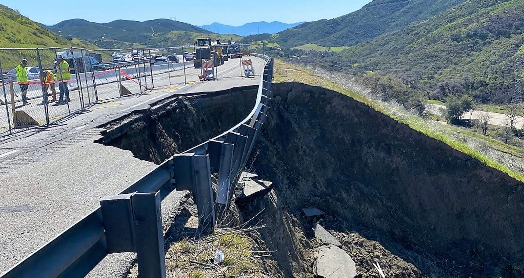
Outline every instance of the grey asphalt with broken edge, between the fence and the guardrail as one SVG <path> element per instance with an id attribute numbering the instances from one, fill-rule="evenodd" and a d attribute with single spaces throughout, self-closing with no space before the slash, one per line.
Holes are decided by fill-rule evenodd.
<path id="1" fill-rule="evenodd" d="M 264 62 L 252 59 L 260 74 Z M 164 98 L 258 85 L 260 76 L 238 76 L 238 63 L 236 59 L 219 68 L 219 77 L 238 73 L 237 77 L 183 85 L 182 75 L 174 79 L 181 84 L 169 86 L 168 75 L 159 74 L 155 81 L 166 87 L 90 106 L 85 113 L 62 118 L 49 128 L 0 137 L 0 273 L 98 207 L 103 196 L 118 193 L 156 166 L 129 151 L 94 143 L 100 138 L 97 126 Z M 176 82 L 171 79 L 171 83 Z M 113 88 L 113 93 L 117 90 L 115 84 L 105 86 Z M 134 90 L 138 92 L 138 86 Z M 34 104 L 24 107 L 37 108 Z M 185 199 L 184 192 L 174 192 L 162 202 L 166 225 Z M 109 255 L 89 277 L 121 277 L 133 257 L 132 253 Z"/>

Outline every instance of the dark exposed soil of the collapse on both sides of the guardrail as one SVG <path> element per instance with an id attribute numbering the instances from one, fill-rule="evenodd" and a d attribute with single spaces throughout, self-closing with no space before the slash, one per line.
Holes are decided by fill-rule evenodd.
<path id="1" fill-rule="evenodd" d="M 522 183 L 337 92 L 272 89 L 249 163 L 274 190 L 234 217 L 267 226 L 250 234 L 257 250 L 276 251 L 265 272 L 313 277 L 318 222 L 363 278 L 377 277 L 373 262 L 388 278 L 524 277 Z M 238 123 L 255 93 L 159 103 L 113 123 L 103 140 L 159 163 Z M 326 214 L 307 218 L 304 207 Z"/>

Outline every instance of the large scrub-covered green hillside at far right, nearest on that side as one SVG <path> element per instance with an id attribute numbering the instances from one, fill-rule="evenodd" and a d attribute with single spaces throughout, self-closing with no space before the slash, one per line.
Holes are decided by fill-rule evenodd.
<path id="1" fill-rule="evenodd" d="M 416 80 L 435 99 L 470 94 L 477 102 L 509 102 L 523 28 L 524 0 L 468 0 L 328 61 Z"/>

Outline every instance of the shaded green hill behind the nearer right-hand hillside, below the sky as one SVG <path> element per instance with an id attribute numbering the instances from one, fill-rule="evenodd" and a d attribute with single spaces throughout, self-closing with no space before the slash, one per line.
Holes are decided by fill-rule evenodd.
<path id="1" fill-rule="evenodd" d="M 428 19 L 462 2 L 464 0 L 374 0 L 351 14 L 281 31 L 277 42 L 288 48 L 308 43 L 324 47 L 353 46 Z"/>

